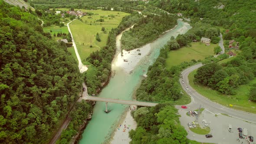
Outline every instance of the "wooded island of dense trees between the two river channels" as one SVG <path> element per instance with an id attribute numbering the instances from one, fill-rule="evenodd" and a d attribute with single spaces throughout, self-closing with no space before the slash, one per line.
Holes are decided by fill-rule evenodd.
<path id="1" fill-rule="evenodd" d="M 121 38 L 122 49 L 131 50 L 139 48 L 158 38 L 164 31 L 173 28 L 177 19 L 165 13 L 162 16 L 150 14 L 141 16 L 134 27 L 123 33 Z"/>

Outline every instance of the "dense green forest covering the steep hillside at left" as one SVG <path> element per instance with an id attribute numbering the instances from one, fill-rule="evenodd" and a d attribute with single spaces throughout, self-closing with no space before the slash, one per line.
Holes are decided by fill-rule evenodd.
<path id="1" fill-rule="evenodd" d="M 82 88 L 66 46 L 29 12 L 0 0 L 0 143 L 47 143 Z"/>

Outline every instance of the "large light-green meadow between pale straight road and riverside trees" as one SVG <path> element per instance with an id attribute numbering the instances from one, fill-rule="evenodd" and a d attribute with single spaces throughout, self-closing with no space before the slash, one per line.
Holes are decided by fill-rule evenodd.
<path id="1" fill-rule="evenodd" d="M 69 9 L 56 9 L 56 10 L 69 10 Z M 94 13 L 92 16 L 82 16 L 80 20 L 74 20 L 69 24 L 75 44 L 77 46 L 79 55 L 83 63 L 91 52 L 100 50 L 106 45 L 108 33 L 112 28 L 116 28 L 121 22 L 122 18 L 129 13 L 117 11 L 104 11 L 104 10 L 81 10 L 83 12 Z M 108 17 L 108 15 L 115 15 L 115 17 Z M 101 17 L 102 16 L 102 17 Z M 104 22 L 96 22 L 98 19 L 104 19 Z M 92 23 L 92 25 L 90 25 Z M 101 31 L 102 27 L 105 28 L 107 33 Z M 96 41 L 95 36 L 99 33 L 101 42 Z M 92 48 L 90 43 L 92 42 Z"/>

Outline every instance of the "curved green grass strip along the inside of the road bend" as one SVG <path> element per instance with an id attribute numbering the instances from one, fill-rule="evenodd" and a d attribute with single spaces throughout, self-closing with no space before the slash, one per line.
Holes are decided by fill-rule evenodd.
<path id="1" fill-rule="evenodd" d="M 198 93 L 209 98 L 211 101 L 217 102 L 221 105 L 230 107 L 232 104 L 234 109 L 256 113 L 256 102 L 249 101 L 249 91 L 252 85 L 256 84 L 256 78 L 246 85 L 240 85 L 236 89 L 236 95 L 223 95 L 220 92 L 212 90 L 202 85 L 194 84 L 194 75 L 196 70 L 188 75 L 189 83 Z"/>

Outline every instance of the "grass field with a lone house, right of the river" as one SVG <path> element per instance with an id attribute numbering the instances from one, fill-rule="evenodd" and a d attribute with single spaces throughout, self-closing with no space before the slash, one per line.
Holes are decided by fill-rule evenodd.
<path id="1" fill-rule="evenodd" d="M 168 52 L 168 57 L 166 60 L 166 67 L 169 69 L 171 66 L 179 65 L 181 62 L 189 62 L 192 59 L 203 60 L 207 56 L 214 55 L 213 49 L 218 46 L 218 44 L 210 44 L 210 46 L 205 46 L 205 44 L 196 42 L 191 43 L 191 47 L 182 47 L 181 49 L 172 50 Z"/>

